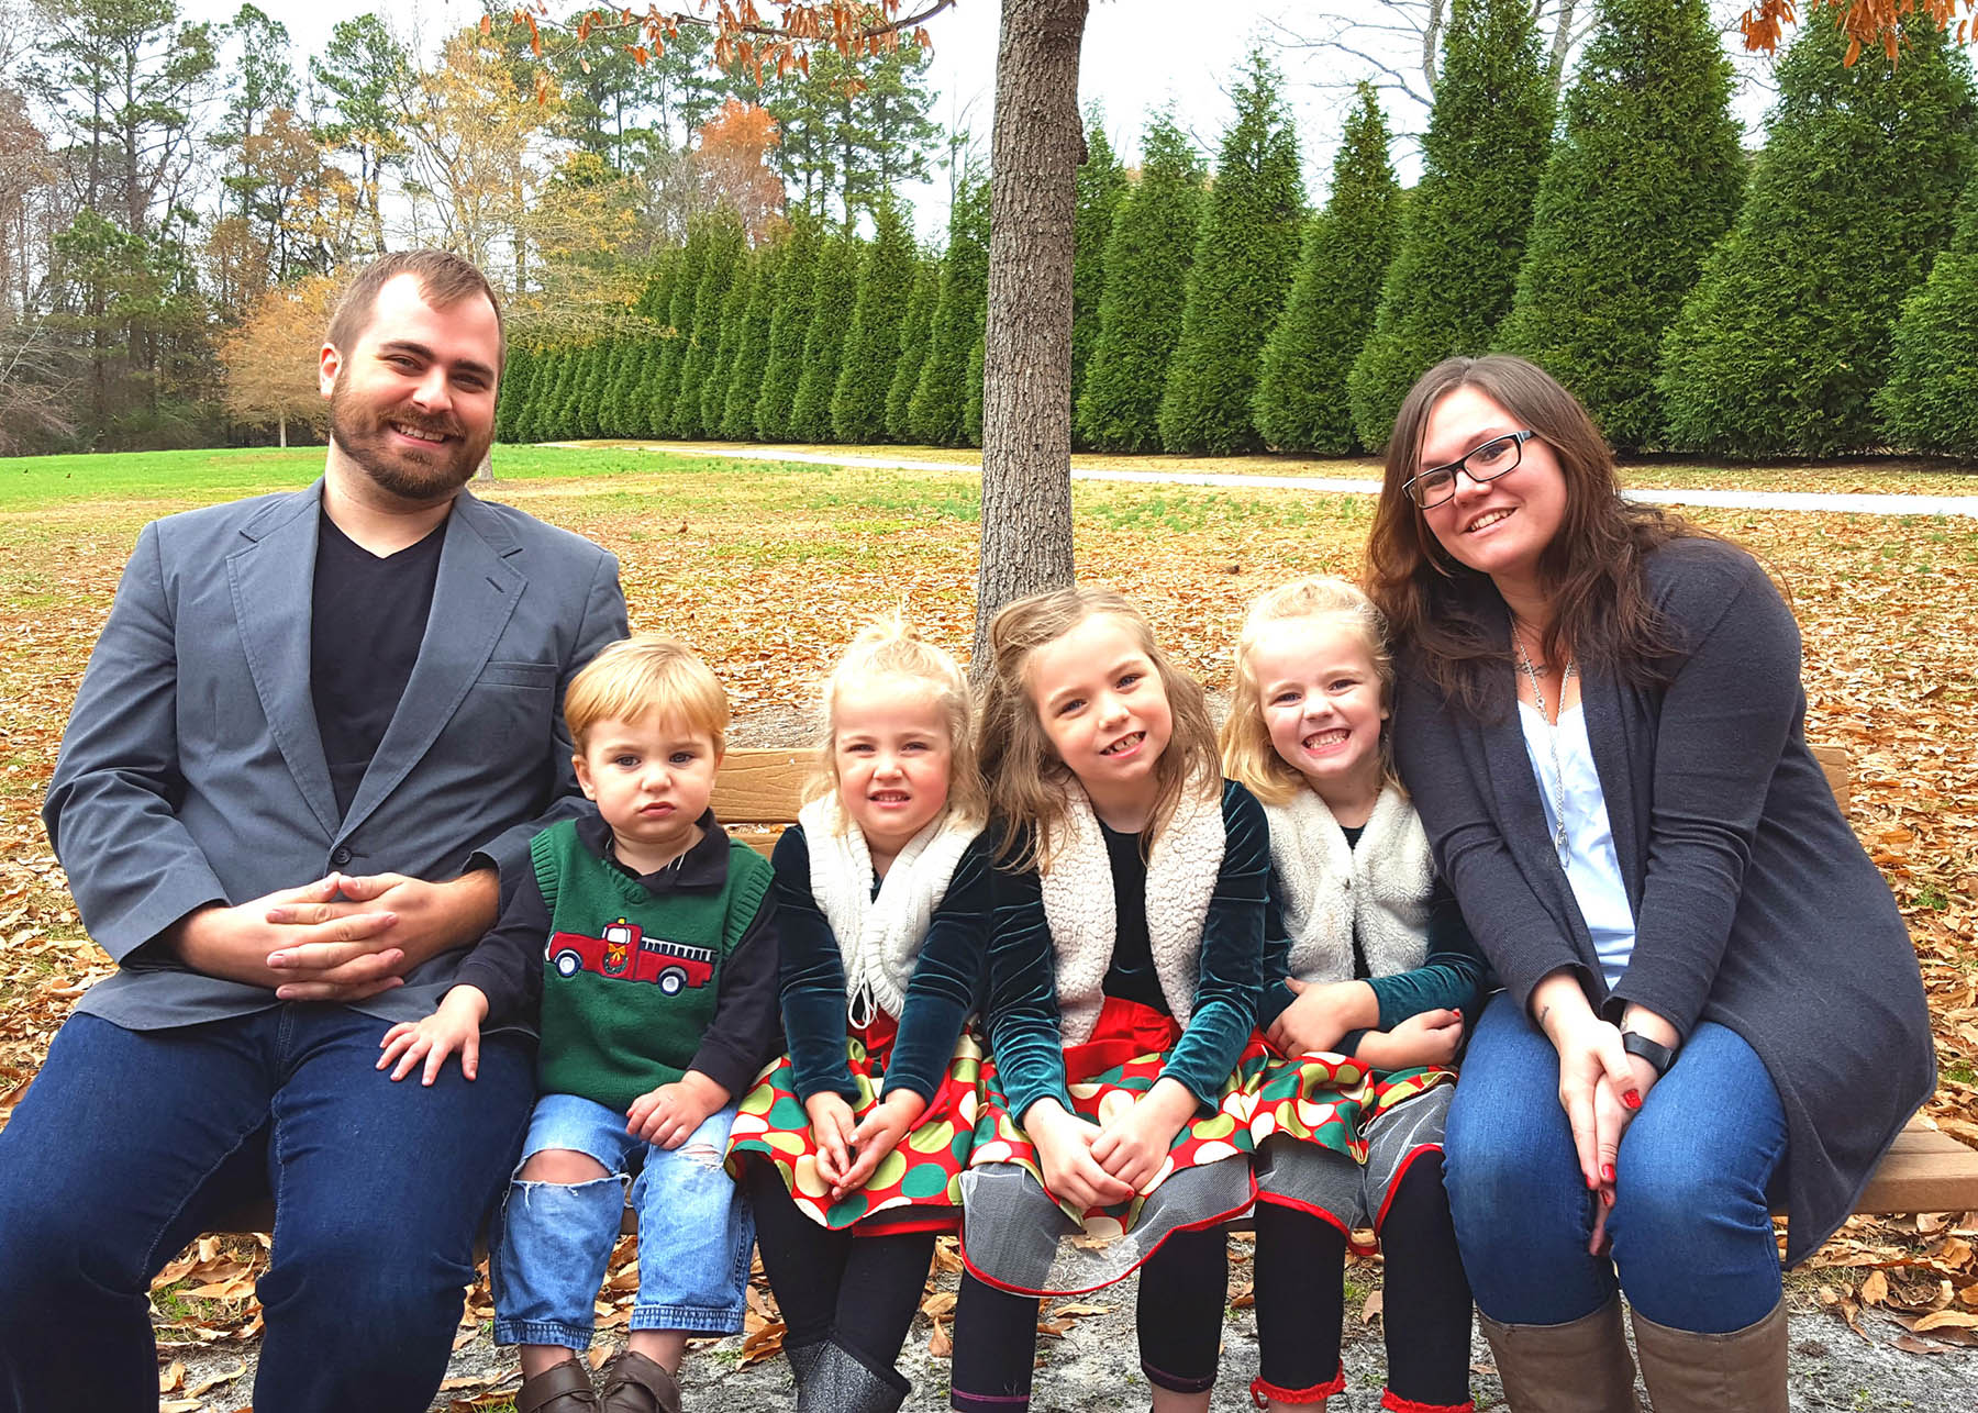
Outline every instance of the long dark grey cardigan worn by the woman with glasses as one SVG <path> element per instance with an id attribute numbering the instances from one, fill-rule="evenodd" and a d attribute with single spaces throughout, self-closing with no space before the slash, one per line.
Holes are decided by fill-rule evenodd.
<path id="1" fill-rule="evenodd" d="M 1545 831 L 1511 671 L 1480 720 L 1404 651 L 1396 762 L 1436 865 L 1521 1005 L 1573 968 L 1610 1019 L 1636 1001 L 1683 1035 L 1717 1021 L 1758 1053 L 1786 1110 L 1794 1265 L 1847 1217 L 1936 1083 L 1917 954 L 1806 746 L 1800 629 L 1772 582 L 1701 538 L 1665 544 L 1646 574 L 1687 649 L 1673 679 L 1634 687 L 1592 669 L 1580 687 L 1636 914 L 1612 993 Z M 1507 617 L 1503 631 L 1509 651 Z"/>

